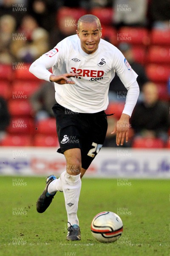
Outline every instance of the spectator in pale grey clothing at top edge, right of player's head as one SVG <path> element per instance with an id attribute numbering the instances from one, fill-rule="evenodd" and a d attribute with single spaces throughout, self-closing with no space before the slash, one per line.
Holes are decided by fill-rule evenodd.
<path id="1" fill-rule="evenodd" d="M 114 0 L 113 24 L 119 26 L 146 26 L 148 0 Z"/>

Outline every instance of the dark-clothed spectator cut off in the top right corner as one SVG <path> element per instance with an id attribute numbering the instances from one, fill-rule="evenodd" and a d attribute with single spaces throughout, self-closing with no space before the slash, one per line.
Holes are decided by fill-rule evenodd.
<path id="1" fill-rule="evenodd" d="M 149 16 L 153 27 L 158 29 L 170 28 L 170 0 L 151 0 Z"/>

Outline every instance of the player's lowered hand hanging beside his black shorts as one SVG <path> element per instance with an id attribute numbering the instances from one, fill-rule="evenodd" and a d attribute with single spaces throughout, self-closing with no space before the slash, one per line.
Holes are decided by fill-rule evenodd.
<path id="1" fill-rule="evenodd" d="M 123 145 L 124 140 L 128 142 L 129 138 L 129 119 L 130 116 L 127 114 L 122 114 L 119 121 L 117 121 L 117 124 L 111 134 L 114 134 L 116 132 L 116 145 Z"/>

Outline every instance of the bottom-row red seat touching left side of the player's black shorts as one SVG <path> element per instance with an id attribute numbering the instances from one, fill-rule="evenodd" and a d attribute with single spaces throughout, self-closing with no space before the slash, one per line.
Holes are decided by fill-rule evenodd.
<path id="1" fill-rule="evenodd" d="M 45 135 L 45 134 L 36 134 L 34 136 L 34 146 L 37 147 L 58 147 L 59 142 L 57 135 Z"/>

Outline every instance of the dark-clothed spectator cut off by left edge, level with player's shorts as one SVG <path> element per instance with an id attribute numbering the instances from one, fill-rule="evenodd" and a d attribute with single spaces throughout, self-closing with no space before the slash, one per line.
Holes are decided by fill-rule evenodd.
<path id="1" fill-rule="evenodd" d="M 0 141 L 6 135 L 6 128 L 10 123 L 10 114 L 8 111 L 8 106 L 6 100 L 0 96 Z"/>

